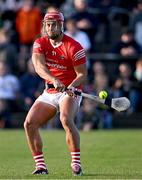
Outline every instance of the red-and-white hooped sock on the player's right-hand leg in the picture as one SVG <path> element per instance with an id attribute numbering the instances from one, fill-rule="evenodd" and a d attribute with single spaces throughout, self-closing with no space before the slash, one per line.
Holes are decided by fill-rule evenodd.
<path id="1" fill-rule="evenodd" d="M 79 165 L 81 167 L 81 162 L 80 162 L 80 149 L 76 149 L 71 152 L 71 166 L 74 165 Z"/>

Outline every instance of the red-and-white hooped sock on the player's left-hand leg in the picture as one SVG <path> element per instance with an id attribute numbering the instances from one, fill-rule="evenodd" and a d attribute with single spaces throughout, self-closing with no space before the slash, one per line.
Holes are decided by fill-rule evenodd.
<path id="1" fill-rule="evenodd" d="M 36 153 L 33 155 L 33 158 L 36 164 L 36 169 L 47 169 L 43 153 Z"/>

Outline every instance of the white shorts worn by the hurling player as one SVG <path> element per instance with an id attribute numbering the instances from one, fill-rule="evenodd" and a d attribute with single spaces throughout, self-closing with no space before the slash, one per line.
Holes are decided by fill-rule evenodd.
<path id="1" fill-rule="evenodd" d="M 50 104 L 54 106 L 57 109 L 57 111 L 59 111 L 59 104 L 66 96 L 68 96 L 66 92 L 51 94 L 51 93 L 47 93 L 44 90 L 44 92 L 36 99 L 36 101 L 41 101 Z M 81 100 L 82 100 L 82 96 L 77 96 L 77 98 L 74 98 L 74 101 L 75 103 L 77 103 L 78 107 L 80 106 Z"/>

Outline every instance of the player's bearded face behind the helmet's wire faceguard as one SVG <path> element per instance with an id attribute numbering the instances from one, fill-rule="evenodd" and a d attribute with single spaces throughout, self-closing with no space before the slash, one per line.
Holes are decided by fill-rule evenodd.
<path id="1" fill-rule="evenodd" d="M 45 30 L 50 39 L 57 39 L 61 34 L 61 22 L 59 21 L 46 21 Z"/>

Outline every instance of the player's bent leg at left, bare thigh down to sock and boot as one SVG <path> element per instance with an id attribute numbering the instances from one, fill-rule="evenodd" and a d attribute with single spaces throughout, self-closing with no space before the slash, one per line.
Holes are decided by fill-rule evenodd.
<path id="1" fill-rule="evenodd" d="M 33 174 L 47 174 L 44 156 L 42 153 L 42 140 L 39 128 L 56 114 L 56 108 L 50 104 L 35 101 L 26 117 L 24 128 L 30 150 L 36 163 Z"/>

